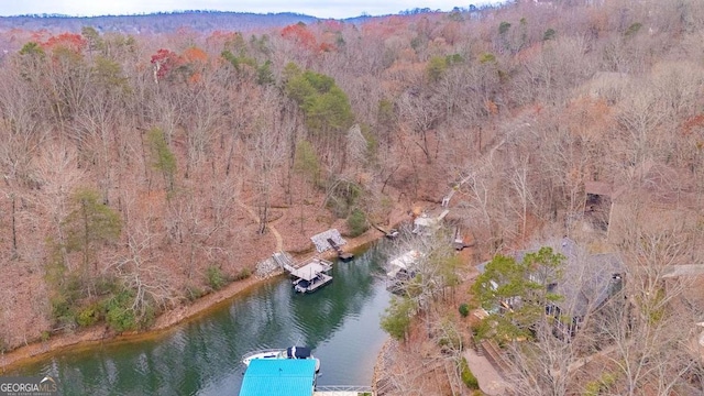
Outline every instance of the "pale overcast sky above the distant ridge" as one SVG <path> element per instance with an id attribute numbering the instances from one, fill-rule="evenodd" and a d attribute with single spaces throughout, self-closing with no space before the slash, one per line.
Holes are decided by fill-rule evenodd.
<path id="1" fill-rule="evenodd" d="M 317 18 L 395 14 L 429 8 L 450 11 L 496 3 L 498 0 L 0 0 L 0 15 L 65 14 L 72 16 L 124 15 L 185 10 L 237 12 L 296 12 Z"/>

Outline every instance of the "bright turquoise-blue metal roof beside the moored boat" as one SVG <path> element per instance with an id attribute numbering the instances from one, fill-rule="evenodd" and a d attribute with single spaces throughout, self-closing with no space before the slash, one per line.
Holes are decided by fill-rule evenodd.
<path id="1" fill-rule="evenodd" d="M 315 378 L 314 359 L 254 359 L 240 396 L 311 396 Z"/>

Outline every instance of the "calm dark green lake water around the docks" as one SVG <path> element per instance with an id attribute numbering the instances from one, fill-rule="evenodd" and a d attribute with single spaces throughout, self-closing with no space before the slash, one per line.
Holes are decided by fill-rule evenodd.
<path id="1" fill-rule="evenodd" d="M 280 277 L 158 339 L 64 352 L 14 374 L 52 375 L 62 395 L 238 395 L 243 354 L 298 344 L 320 359 L 318 384 L 371 385 L 389 299 L 377 246 L 336 263 L 314 294 Z"/>

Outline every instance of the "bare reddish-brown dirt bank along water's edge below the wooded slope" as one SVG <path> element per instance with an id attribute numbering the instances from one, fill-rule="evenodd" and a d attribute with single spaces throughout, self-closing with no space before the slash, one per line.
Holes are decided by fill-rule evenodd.
<path id="1" fill-rule="evenodd" d="M 377 230 L 370 228 L 370 230 L 362 235 L 348 239 L 344 250 L 358 250 L 384 237 L 380 235 Z M 320 256 L 329 260 L 334 258 L 337 254 L 333 251 L 328 251 L 320 254 Z M 61 351 L 78 351 L 101 343 L 133 342 L 165 336 L 169 331 L 173 331 L 178 324 L 196 320 L 221 305 L 231 302 L 233 298 L 244 292 L 263 285 L 278 276 L 280 276 L 280 274 L 273 274 L 261 278 L 253 275 L 243 280 L 232 282 L 222 289 L 208 294 L 190 305 L 179 306 L 163 312 L 156 318 L 152 327 L 143 331 L 131 331 L 118 334 L 108 330 L 105 323 L 100 323 L 88 329 L 81 329 L 75 333 L 58 334 L 46 341 L 28 343 L 26 345 L 0 354 L 0 374 Z"/>

